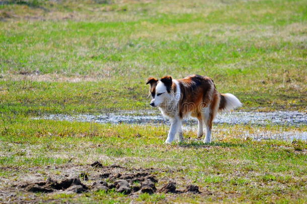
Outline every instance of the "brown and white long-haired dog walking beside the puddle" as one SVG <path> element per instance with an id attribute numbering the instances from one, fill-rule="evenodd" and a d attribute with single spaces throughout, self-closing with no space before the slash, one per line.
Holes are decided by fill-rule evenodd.
<path id="1" fill-rule="evenodd" d="M 149 78 L 152 107 L 159 107 L 162 114 L 171 120 L 171 128 L 165 143 L 183 140 L 182 120 L 192 116 L 198 119 L 197 137 L 203 135 L 203 124 L 206 125 L 207 134 L 204 143 L 211 142 L 212 121 L 219 111 L 230 111 L 241 107 L 242 103 L 233 94 L 220 94 L 217 92 L 213 80 L 209 77 L 191 75 L 184 79 L 173 80 L 165 76 L 161 80 Z"/>

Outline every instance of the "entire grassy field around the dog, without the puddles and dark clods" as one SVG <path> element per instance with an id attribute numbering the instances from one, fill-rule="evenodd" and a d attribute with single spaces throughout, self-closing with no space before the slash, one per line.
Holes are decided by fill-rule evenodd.
<path id="1" fill-rule="evenodd" d="M 306 113 L 306 11 L 305 0 L 0 1 L 0 202 L 307 203 L 306 141 L 242 133 L 306 123 L 215 124 L 209 145 L 196 129 L 163 145 L 168 125 L 41 118 L 151 111 L 148 77 L 190 74 L 243 111 Z M 157 190 L 118 192 L 127 175 Z M 82 184 L 54 187 L 67 178 Z"/>

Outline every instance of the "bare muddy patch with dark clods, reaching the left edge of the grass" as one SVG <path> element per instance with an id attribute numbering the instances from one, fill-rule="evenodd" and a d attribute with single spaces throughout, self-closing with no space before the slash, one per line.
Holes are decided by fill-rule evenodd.
<path id="1" fill-rule="evenodd" d="M 157 173 L 172 172 L 171 170 L 128 169 L 120 165 L 104 166 L 99 161 L 70 167 L 47 166 L 46 170 L 48 169 L 48 173 L 42 174 L 32 173 L 37 172 L 37 169 L 29 169 L 28 173 L 19 179 L 14 179 L 13 184 L 11 179 L 4 180 L 4 185 L 1 185 L 4 188 L 0 189 L 0 201 L 32 203 L 43 201 L 37 193 L 81 194 L 99 190 L 116 191 L 132 197 L 137 197 L 141 193 L 210 193 L 201 192 L 199 187 L 192 183 L 178 186 L 174 180 L 157 177 Z"/>

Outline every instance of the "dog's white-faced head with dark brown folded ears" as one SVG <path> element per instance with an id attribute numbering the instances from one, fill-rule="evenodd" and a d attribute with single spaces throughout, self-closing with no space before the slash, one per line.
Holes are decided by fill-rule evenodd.
<path id="1" fill-rule="evenodd" d="M 150 84 L 150 94 L 152 97 L 150 105 L 152 107 L 160 106 L 172 97 L 171 88 L 173 81 L 171 76 L 165 76 L 160 81 L 150 77 L 146 84 Z"/>

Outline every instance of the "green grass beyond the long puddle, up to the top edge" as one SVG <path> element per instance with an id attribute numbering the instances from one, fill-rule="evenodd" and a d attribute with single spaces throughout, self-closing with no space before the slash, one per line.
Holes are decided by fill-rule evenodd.
<path id="1" fill-rule="evenodd" d="M 0 101 L 18 112 L 142 108 L 148 77 L 190 74 L 247 110 L 307 106 L 305 1 L 16 2 L 0 6 Z"/>

